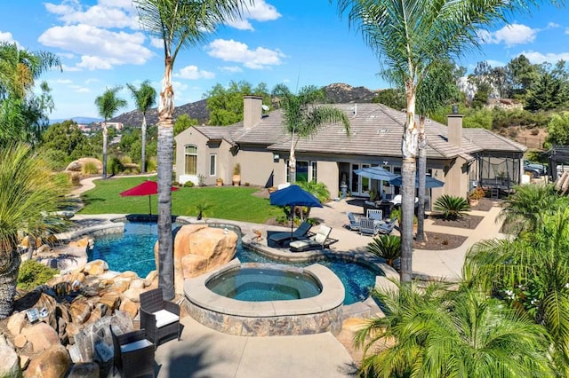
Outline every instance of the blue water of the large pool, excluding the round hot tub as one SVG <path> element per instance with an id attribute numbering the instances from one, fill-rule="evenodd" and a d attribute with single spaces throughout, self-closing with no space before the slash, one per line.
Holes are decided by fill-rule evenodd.
<path id="1" fill-rule="evenodd" d="M 180 224 L 172 224 L 177 227 Z M 157 240 L 157 224 L 128 223 L 124 224 L 124 234 L 109 234 L 97 237 L 92 252 L 88 254 L 89 261 L 105 260 L 112 271 L 136 272 L 140 277 L 146 277 L 156 270 L 154 261 L 154 245 Z M 237 244 L 236 257 L 242 263 L 276 263 L 267 257 L 260 256 L 251 250 Z M 278 262 L 283 264 L 283 262 Z M 291 263 L 293 264 L 293 263 Z M 313 263 L 294 263 L 295 266 L 309 266 Z M 346 298 L 344 304 L 357 303 L 368 296 L 369 288 L 375 284 L 375 276 L 381 274 L 355 263 L 344 261 L 318 261 L 332 270 L 344 284 Z"/>

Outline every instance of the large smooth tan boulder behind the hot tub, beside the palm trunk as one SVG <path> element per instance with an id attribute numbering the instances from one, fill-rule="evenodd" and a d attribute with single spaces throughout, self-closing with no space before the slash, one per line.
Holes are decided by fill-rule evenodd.
<path id="1" fill-rule="evenodd" d="M 236 253 L 236 245 L 237 234 L 233 231 L 209 227 L 207 224 L 181 226 L 173 243 L 175 292 L 184 293 L 184 279 L 210 272 L 231 261 Z M 157 242 L 154 251 L 157 262 Z"/>

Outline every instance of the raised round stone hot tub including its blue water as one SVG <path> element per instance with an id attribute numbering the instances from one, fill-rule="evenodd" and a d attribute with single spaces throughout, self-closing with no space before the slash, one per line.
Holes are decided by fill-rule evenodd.
<path id="1" fill-rule="evenodd" d="M 220 288 L 223 295 L 208 286 Z M 341 331 L 344 286 L 320 264 L 297 268 L 234 261 L 185 280 L 184 293 L 192 318 L 230 335 L 338 335 Z"/>

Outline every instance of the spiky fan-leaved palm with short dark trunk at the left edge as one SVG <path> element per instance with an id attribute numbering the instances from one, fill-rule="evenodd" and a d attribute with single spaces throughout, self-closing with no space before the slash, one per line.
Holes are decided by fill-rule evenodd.
<path id="1" fill-rule="evenodd" d="M 65 204 L 66 179 L 52 175 L 41 154 L 29 146 L 0 147 L 0 319 L 12 313 L 20 269 L 20 235 L 35 239 L 60 231 L 53 216 Z"/>

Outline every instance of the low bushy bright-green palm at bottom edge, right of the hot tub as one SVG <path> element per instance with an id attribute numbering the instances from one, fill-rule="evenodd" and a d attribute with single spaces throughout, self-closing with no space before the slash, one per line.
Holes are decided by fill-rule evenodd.
<path id="1" fill-rule="evenodd" d="M 355 340 L 361 376 L 552 376 L 543 327 L 473 289 L 397 284 L 375 291 L 385 318 Z"/>

